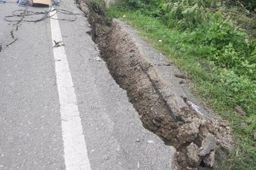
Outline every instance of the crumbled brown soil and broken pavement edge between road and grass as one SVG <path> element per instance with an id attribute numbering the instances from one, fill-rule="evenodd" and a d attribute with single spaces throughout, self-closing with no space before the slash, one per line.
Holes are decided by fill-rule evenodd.
<path id="1" fill-rule="evenodd" d="M 77 3 L 91 23 L 88 33 L 100 46 L 114 80 L 127 91 L 143 126 L 176 148 L 172 169 L 217 167 L 216 154 L 234 145 L 228 123 L 200 115 L 186 96 L 170 88 L 124 23 L 114 19 L 108 27 L 95 4 Z"/>

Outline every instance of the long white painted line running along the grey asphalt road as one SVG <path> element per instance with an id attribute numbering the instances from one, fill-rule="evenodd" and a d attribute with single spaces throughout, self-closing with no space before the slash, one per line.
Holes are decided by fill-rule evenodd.
<path id="1" fill-rule="evenodd" d="M 52 8 L 53 9 L 53 8 Z M 51 12 L 52 16 L 55 12 Z M 55 19 L 52 19 L 55 18 Z M 52 43 L 62 41 L 57 15 L 51 20 Z M 67 170 L 91 170 L 87 155 L 81 118 L 76 101 L 76 94 L 67 63 L 64 46 L 54 47 L 55 72 L 59 92 L 62 118 L 62 137 L 64 141 L 64 159 Z"/>

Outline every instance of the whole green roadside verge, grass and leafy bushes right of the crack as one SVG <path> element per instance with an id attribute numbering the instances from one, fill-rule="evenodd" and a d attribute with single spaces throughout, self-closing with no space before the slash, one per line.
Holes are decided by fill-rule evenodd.
<path id="1" fill-rule="evenodd" d="M 162 54 L 170 57 L 171 62 L 187 71 L 194 82 L 192 90 L 232 124 L 237 149 L 230 153 L 226 167 L 254 169 L 256 21 L 253 11 L 230 1 L 226 1 L 229 4 L 145 2 L 126 1 L 112 6 L 107 15 L 135 27 Z M 247 117 L 235 113 L 235 106 L 241 106 Z"/>

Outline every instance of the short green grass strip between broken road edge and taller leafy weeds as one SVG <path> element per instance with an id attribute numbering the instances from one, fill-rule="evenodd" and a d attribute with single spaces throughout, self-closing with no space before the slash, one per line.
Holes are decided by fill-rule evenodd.
<path id="1" fill-rule="evenodd" d="M 137 29 L 147 42 L 191 77 L 194 94 L 230 122 L 237 146 L 229 153 L 221 169 L 255 169 L 256 150 L 253 145 L 256 143 L 251 137 L 254 125 L 251 129 L 242 128 L 240 124 L 247 122 L 247 118 L 233 111 L 235 105 L 241 105 L 249 115 L 255 115 L 255 81 L 248 76 L 238 76 L 232 69 L 219 67 L 207 58 L 198 57 L 191 52 L 191 49 L 198 48 L 198 44 L 187 41 L 191 38 L 188 32 L 170 29 L 158 18 L 122 6 L 112 6 L 106 14 Z"/>

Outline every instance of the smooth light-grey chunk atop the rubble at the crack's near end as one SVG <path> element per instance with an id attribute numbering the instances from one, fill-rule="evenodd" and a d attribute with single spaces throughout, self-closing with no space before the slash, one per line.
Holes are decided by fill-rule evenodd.
<path id="1" fill-rule="evenodd" d="M 202 141 L 202 147 L 200 148 L 200 156 L 205 156 L 216 147 L 215 137 L 211 133 L 208 133 L 206 138 Z"/>

